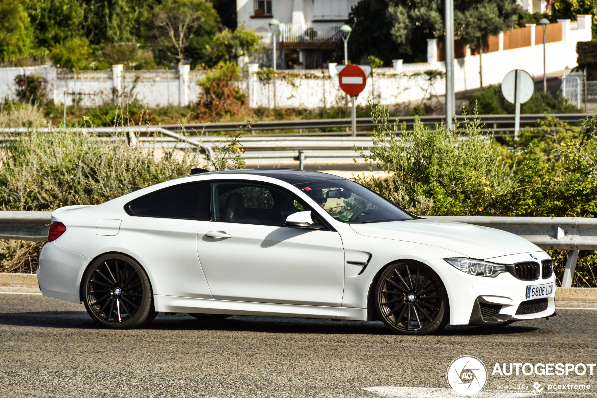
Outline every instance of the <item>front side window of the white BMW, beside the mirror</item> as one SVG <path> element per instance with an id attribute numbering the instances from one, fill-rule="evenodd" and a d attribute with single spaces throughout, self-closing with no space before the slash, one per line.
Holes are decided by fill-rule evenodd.
<path id="1" fill-rule="evenodd" d="M 214 221 L 284 226 L 306 205 L 281 189 L 252 183 L 213 183 Z"/>

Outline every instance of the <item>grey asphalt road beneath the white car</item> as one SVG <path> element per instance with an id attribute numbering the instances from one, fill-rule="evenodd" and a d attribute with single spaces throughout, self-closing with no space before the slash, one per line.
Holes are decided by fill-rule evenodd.
<path id="1" fill-rule="evenodd" d="M 533 390 L 534 381 L 546 387 L 547 380 L 595 382 L 583 393 L 558 391 L 593 396 L 597 375 L 509 381 L 491 375 L 496 362 L 597 363 L 597 311 L 558 312 L 501 328 L 448 326 L 424 337 L 390 334 L 380 322 L 251 316 L 202 322 L 187 314 L 112 331 L 93 323 L 82 304 L 0 294 L 0 397 L 438 398 L 456 396 L 446 372 L 462 355 L 488 368 L 476 397 L 529 396 L 496 385 Z"/>

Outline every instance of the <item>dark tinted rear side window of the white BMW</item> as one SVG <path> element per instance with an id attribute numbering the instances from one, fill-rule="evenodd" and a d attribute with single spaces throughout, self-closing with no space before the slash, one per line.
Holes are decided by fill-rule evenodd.
<path id="1" fill-rule="evenodd" d="M 139 217 L 211 220 L 210 184 L 190 183 L 149 193 L 125 205 L 129 215 Z"/>

